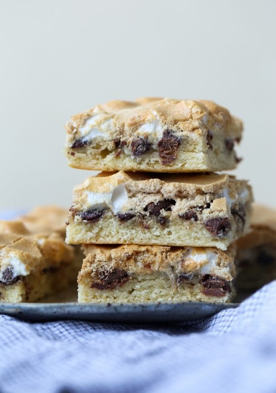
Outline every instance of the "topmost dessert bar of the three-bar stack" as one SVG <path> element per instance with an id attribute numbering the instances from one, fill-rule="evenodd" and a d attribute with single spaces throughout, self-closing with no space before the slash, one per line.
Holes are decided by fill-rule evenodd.
<path id="1" fill-rule="evenodd" d="M 69 165 L 101 171 L 220 171 L 236 167 L 242 122 L 212 101 L 110 101 L 66 124 Z"/>

